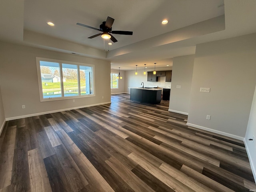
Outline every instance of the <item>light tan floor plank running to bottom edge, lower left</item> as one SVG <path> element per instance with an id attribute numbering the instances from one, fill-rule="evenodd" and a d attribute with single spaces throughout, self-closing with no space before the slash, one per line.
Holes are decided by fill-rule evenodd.
<path id="1" fill-rule="evenodd" d="M 51 192 L 41 152 L 38 148 L 28 151 L 28 168 L 31 192 Z"/>

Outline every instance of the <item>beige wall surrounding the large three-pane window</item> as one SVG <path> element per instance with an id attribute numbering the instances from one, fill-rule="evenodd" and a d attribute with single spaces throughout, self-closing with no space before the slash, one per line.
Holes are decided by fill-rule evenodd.
<path id="1" fill-rule="evenodd" d="M 36 57 L 95 65 L 94 97 L 40 102 Z M 110 62 L 27 46 L 0 43 L 0 86 L 5 117 L 17 118 L 110 102 Z M 104 97 L 102 99 L 102 96 Z M 26 105 L 22 109 L 22 105 Z"/>

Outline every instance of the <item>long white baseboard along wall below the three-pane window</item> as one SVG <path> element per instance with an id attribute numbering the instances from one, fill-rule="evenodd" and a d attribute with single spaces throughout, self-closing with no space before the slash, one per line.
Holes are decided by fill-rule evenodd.
<path id="1" fill-rule="evenodd" d="M 32 116 L 37 116 L 37 115 L 44 115 L 44 114 L 49 114 L 49 113 L 56 113 L 56 112 L 61 112 L 61 111 L 68 111 L 68 110 L 73 110 L 73 109 L 80 109 L 80 108 L 85 108 L 85 107 L 92 107 L 92 106 L 97 106 L 97 105 L 104 105 L 104 104 L 109 104 L 109 103 L 111 103 L 111 102 L 97 103 L 97 104 L 91 104 L 91 105 L 85 105 L 85 106 L 79 106 L 79 107 L 59 109 L 59 110 L 54 110 L 54 111 L 46 111 L 46 112 L 41 112 L 41 113 L 34 113 L 34 114 L 28 114 L 28 115 L 22 115 L 22 116 L 16 116 L 16 117 L 9 117 L 9 118 L 6 118 L 6 121 L 10 121 L 10 120 L 14 120 L 14 119 L 21 119 L 21 118 L 26 118 L 26 117 L 32 117 Z"/>

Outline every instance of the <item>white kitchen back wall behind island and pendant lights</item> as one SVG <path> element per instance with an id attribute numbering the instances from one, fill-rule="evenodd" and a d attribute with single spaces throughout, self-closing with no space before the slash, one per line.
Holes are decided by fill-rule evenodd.
<path id="1" fill-rule="evenodd" d="M 166 68 L 156 68 L 156 71 L 169 71 L 172 70 L 172 67 Z M 159 88 L 170 88 L 171 82 L 165 82 L 165 77 L 158 77 L 157 82 L 147 81 L 148 71 L 154 71 L 154 68 L 146 69 L 146 75 L 143 74 L 144 69 L 137 70 L 138 75 L 135 75 L 136 70 L 125 71 L 125 92 L 130 93 L 129 87 L 141 87 L 141 83 L 144 82 L 144 87 L 146 86 L 158 86 Z"/>

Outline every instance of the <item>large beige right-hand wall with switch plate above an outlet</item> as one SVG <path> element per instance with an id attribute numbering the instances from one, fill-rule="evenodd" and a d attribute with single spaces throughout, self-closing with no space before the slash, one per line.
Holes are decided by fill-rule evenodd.
<path id="1" fill-rule="evenodd" d="M 255 61 L 256 33 L 198 44 L 188 125 L 243 140 L 256 84 Z"/>

